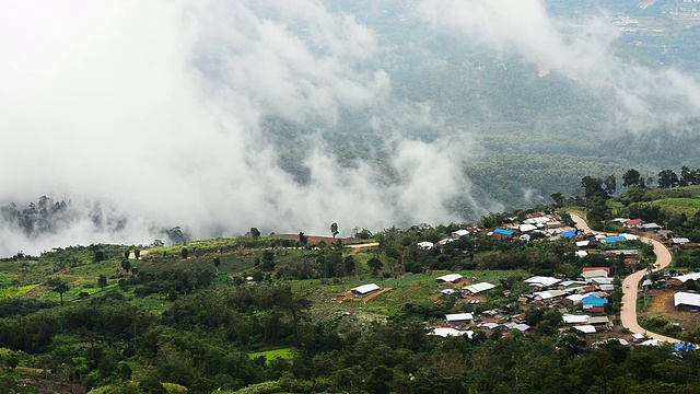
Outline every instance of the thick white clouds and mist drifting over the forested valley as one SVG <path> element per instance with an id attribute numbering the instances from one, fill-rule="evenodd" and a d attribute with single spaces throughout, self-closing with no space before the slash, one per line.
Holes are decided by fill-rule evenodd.
<path id="1" fill-rule="evenodd" d="M 95 230 L 85 215 L 40 240 L 5 227 L 0 254 L 150 243 L 174 225 L 196 236 L 250 227 L 326 234 L 338 222 L 348 234 L 354 227 L 459 221 L 455 201 L 477 215 L 502 208 L 472 196 L 463 163 L 480 150 L 468 135 L 408 137 L 441 130 L 443 119 L 430 102 L 396 96 L 384 61 L 397 47 L 328 4 L 0 2 L 0 200 L 50 195 L 77 211 L 100 201 L 106 216 L 128 217 L 115 233 Z M 462 37 L 612 89 L 619 117 L 632 128 L 700 107 L 690 77 L 617 59 L 605 15 L 583 27 L 583 40 L 561 33 L 538 0 L 409 4 L 425 34 Z M 680 105 L 651 111 L 660 95 Z M 343 116 L 366 119 L 363 132 L 382 141 L 383 171 L 370 161 L 346 167 L 328 149 L 322 136 Z M 282 170 L 266 119 L 303 130 L 298 147 L 284 148 L 303 152 L 307 182 Z"/>

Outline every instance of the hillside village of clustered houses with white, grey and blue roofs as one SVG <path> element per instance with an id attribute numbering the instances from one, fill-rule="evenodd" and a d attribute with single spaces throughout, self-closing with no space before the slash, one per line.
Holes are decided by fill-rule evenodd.
<path id="1" fill-rule="evenodd" d="M 515 218 L 511 218 L 515 219 Z M 583 258 L 588 254 L 599 254 L 609 258 L 622 258 L 625 266 L 632 271 L 642 265 L 642 253 L 639 248 L 610 248 L 617 243 L 640 241 L 653 237 L 662 241 L 670 248 L 696 248 L 698 244 L 685 237 L 676 237 L 673 232 L 664 230 L 657 223 L 645 223 L 641 219 L 617 218 L 615 223 L 627 230 L 622 233 L 598 233 L 583 231 L 563 223 L 559 216 L 541 212 L 533 213 L 522 222 L 514 221 L 495 229 L 460 229 L 452 232 L 450 237 L 436 243 L 422 241 L 417 245 L 421 250 L 440 248 L 463 236 L 489 236 L 503 242 L 556 242 L 568 240 L 575 250 L 575 255 Z M 606 247 L 600 247 L 605 245 Z M 654 256 L 651 256 L 652 259 Z M 646 269 L 651 273 L 653 264 Z M 689 289 L 674 294 L 674 308 L 677 311 L 700 311 L 700 294 L 696 293 L 695 280 L 700 273 L 677 273 L 665 270 L 657 280 L 644 279 L 638 289 L 623 288 L 622 277 L 614 275 L 609 266 L 584 267 L 578 277 L 532 276 L 523 280 L 525 291 L 517 294 L 517 304 L 506 304 L 498 309 L 481 308 L 490 296 L 510 297 L 511 290 L 501 289 L 500 283 L 480 281 L 477 277 L 465 277 L 458 273 L 439 276 L 434 279 L 434 291 L 440 293 L 435 304 L 454 302 L 459 313 L 448 313 L 439 322 L 427 322 L 427 333 L 440 337 L 466 336 L 489 338 L 493 335 L 528 335 L 533 329 L 528 325 L 528 313 L 533 311 L 557 311 L 561 322 L 558 325 L 560 335 L 575 335 L 592 341 L 617 340 L 621 345 L 658 345 L 662 339 L 651 333 L 634 333 L 623 327 L 618 309 L 610 308 L 609 300 L 617 298 L 619 303 L 622 292 L 645 291 L 652 287 Z M 690 285 L 690 286 L 687 286 Z M 365 283 L 349 290 L 357 299 L 368 300 L 390 289 L 383 289 L 376 283 Z M 529 311 L 529 312 L 528 312 Z M 515 313 L 514 313 L 515 312 Z M 541 314 L 541 313 L 540 313 Z M 689 349 L 689 345 L 676 344 Z"/>

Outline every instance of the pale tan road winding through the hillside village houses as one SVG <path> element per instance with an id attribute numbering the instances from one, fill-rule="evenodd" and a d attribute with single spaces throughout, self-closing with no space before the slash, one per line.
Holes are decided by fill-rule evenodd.
<path id="1" fill-rule="evenodd" d="M 576 228 L 584 232 L 593 231 L 588 224 L 575 213 L 571 213 L 571 219 L 576 223 Z M 641 237 L 643 242 L 654 245 L 654 254 L 656 255 L 656 263 L 653 270 L 657 271 L 670 264 L 670 252 L 661 242 L 649 237 Z M 637 273 L 628 276 L 622 281 L 622 308 L 620 310 L 620 320 L 622 326 L 635 334 L 643 334 L 649 338 L 665 340 L 670 344 L 678 344 L 680 340 L 665 335 L 648 332 L 637 323 L 637 290 L 639 289 L 639 281 L 646 274 L 645 269 L 638 270 Z"/>

